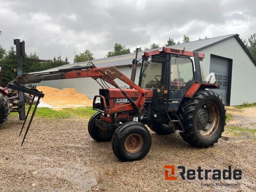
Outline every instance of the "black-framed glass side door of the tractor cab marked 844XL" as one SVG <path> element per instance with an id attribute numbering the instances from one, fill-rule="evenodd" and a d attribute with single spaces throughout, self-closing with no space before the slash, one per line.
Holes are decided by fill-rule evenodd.
<path id="1" fill-rule="evenodd" d="M 194 57 L 172 56 L 170 86 L 168 91 L 168 111 L 177 111 L 184 95 L 195 82 Z"/>

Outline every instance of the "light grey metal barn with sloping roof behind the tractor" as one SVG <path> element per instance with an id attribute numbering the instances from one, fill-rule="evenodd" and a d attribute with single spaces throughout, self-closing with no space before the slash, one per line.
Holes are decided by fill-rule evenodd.
<path id="1" fill-rule="evenodd" d="M 216 81 L 220 84 L 220 89 L 214 90 L 223 98 L 226 105 L 241 105 L 244 102 L 256 101 L 256 60 L 247 50 L 239 35 L 232 34 L 226 36 L 213 37 L 200 41 L 192 41 L 184 44 L 168 46 L 175 49 L 197 51 L 204 53 L 204 71 L 206 76 L 214 72 Z M 140 52 L 138 54 L 140 59 Z M 116 66 L 126 76 L 131 76 L 132 59 L 135 53 L 92 60 L 97 67 Z M 89 61 L 64 65 L 58 68 L 68 68 L 73 66 L 87 65 Z M 56 68 L 53 68 L 56 69 Z M 51 69 L 52 70 L 52 69 Z M 135 83 L 139 81 L 140 65 L 137 67 Z M 121 86 L 125 86 L 119 81 Z M 36 86 L 50 86 L 59 89 L 75 88 L 77 92 L 93 99 L 99 94 L 101 88 L 92 78 L 77 78 L 51 80 L 35 84 Z"/>

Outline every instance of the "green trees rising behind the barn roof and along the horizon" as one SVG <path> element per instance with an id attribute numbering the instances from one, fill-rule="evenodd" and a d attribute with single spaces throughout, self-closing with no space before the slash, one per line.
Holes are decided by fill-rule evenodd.
<path id="1" fill-rule="evenodd" d="M 2 31 L 0 31 L 0 36 L 2 36 Z M 207 36 L 204 38 L 199 37 L 197 40 L 203 40 L 208 39 Z M 249 36 L 248 39 L 241 38 L 244 45 L 248 48 L 248 50 L 251 52 L 252 56 L 256 58 L 256 33 L 253 33 Z M 169 38 L 166 41 L 166 44 L 163 46 L 170 46 L 180 43 L 188 43 L 190 42 L 190 38 L 187 35 L 183 35 L 182 42 L 175 41 L 173 38 Z M 139 51 L 146 51 L 150 49 L 159 48 L 160 45 L 158 43 L 152 43 L 149 45 L 149 47 L 144 47 L 144 49 L 140 48 Z M 136 52 L 136 50 L 133 50 L 133 52 Z M 115 43 L 114 50 L 110 51 L 106 54 L 106 57 L 113 57 L 117 55 L 124 55 L 131 53 L 131 50 L 129 47 L 126 47 L 125 45 Z M 30 53 L 29 55 L 26 55 L 25 58 L 29 59 L 39 59 L 39 56 L 36 52 Z M 77 62 L 84 62 L 89 60 L 94 60 L 93 53 L 86 49 L 82 53 L 74 53 L 74 63 Z M 68 64 L 68 58 L 66 57 L 63 59 L 60 55 L 57 56 L 57 58 L 54 56 L 51 62 L 36 62 L 36 61 L 28 61 L 28 60 L 22 60 L 22 67 L 23 72 L 37 72 L 37 71 L 43 71 L 50 68 L 55 68 L 58 66 L 62 66 L 65 64 Z M 8 82 L 15 79 L 17 76 L 17 58 L 16 58 L 16 51 L 14 50 L 14 47 L 12 46 L 9 51 L 6 51 L 2 45 L 0 44 L 0 67 L 2 67 L 3 70 L 3 78 L 2 78 L 2 84 L 7 85 Z"/>

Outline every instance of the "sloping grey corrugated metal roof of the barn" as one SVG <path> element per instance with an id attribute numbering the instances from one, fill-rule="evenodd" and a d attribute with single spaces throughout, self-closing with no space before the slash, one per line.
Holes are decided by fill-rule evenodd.
<path id="1" fill-rule="evenodd" d="M 191 41 L 188 43 L 182 43 L 182 44 L 176 44 L 176 45 L 171 45 L 167 47 L 175 48 L 175 49 L 183 49 L 185 47 L 185 50 L 188 51 L 197 51 L 199 49 L 202 49 L 207 46 L 212 46 L 213 44 L 216 44 L 220 41 L 223 41 L 225 39 L 231 38 L 233 36 L 238 36 L 237 34 L 232 34 L 232 35 L 226 35 L 226 36 L 219 36 L 219 37 L 213 37 L 209 39 L 203 39 L 199 41 Z M 156 49 L 152 49 L 156 50 Z M 152 51 L 148 50 L 148 51 Z M 142 51 L 144 52 L 144 51 Z M 141 59 L 141 53 L 138 53 L 138 60 Z M 114 57 L 107 57 L 107 58 L 102 58 L 102 59 L 95 59 L 95 60 L 90 60 L 93 62 L 93 64 L 97 67 L 106 67 L 106 66 L 126 66 L 126 65 L 132 65 L 132 60 L 135 58 L 135 53 L 129 53 L 125 55 L 118 55 Z M 74 66 L 85 66 L 87 65 L 88 62 L 90 61 L 85 61 L 85 62 L 79 62 L 79 63 L 72 63 L 68 65 L 63 65 L 60 67 L 52 68 L 52 69 L 47 69 L 47 70 L 53 70 L 53 69 L 60 69 L 60 68 L 69 68 L 69 67 L 74 67 Z"/>

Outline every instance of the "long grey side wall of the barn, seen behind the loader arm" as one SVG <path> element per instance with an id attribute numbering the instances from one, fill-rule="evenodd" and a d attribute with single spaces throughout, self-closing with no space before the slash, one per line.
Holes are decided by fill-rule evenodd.
<path id="1" fill-rule="evenodd" d="M 132 68 L 130 66 L 118 67 L 118 69 L 124 73 L 127 77 L 131 77 Z M 137 66 L 137 73 L 135 78 L 135 83 L 139 83 L 139 75 L 140 75 L 140 66 Z M 116 80 L 120 86 L 127 86 L 127 84 L 123 83 L 119 79 Z M 64 88 L 75 88 L 77 92 L 80 92 L 86 95 L 89 99 L 93 99 L 95 95 L 99 94 L 100 85 L 92 78 L 76 78 L 76 79 L 60 79 L 60 80 L 51 80 L 51 81 L 43 81 L 41 83 L 33 84 L 36 86 L 49 86 L 58 89 Z M 127 86 L 128 87 L 128 86 Z M 129 87 L 128 87 L 129 88 Z"/>

